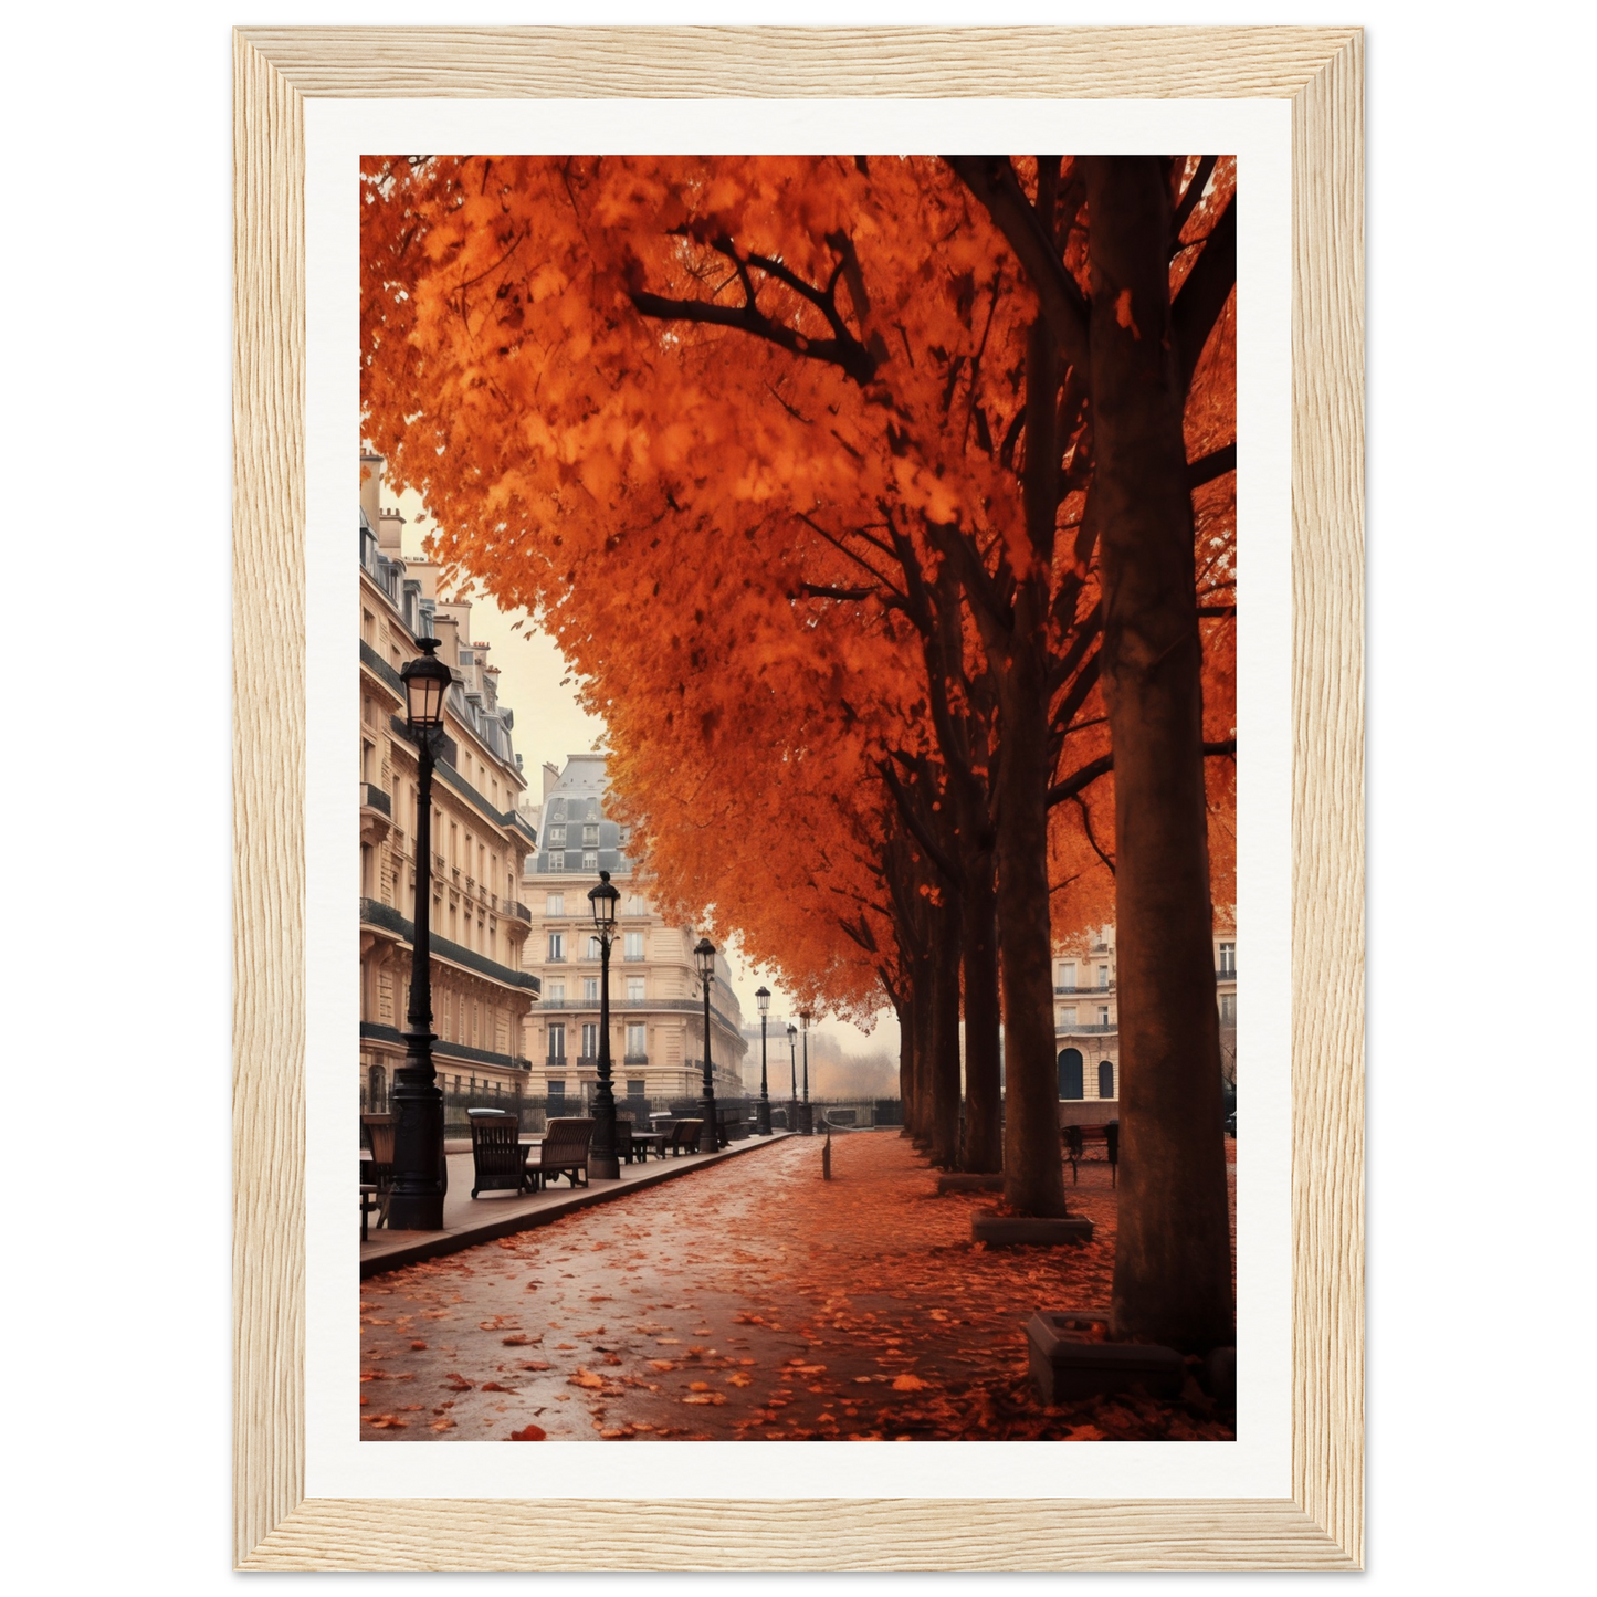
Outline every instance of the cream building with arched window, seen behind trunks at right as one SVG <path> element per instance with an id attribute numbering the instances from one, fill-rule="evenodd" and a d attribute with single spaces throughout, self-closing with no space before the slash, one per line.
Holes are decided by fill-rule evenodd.
<path id="1" fill-rule="evenodd" d="M 1236 1086 L 1236 931 L 1214 934 L 1220 1067 Z M 1054 955 L 1054 1048 L 1064 1102 L 1119 1099 L 1119 997 L 1115 928 L 1100 926 L 1073 953 Z"/>

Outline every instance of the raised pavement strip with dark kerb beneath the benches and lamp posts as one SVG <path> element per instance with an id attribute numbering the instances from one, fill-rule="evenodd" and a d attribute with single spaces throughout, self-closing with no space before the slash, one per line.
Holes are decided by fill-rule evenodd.
<path id="1" fill-rule="evenodd" d="M 463 1247 L 476 1247 L 479 1242 L 492 1242 L 516 1231 L 529 1231 L 533 1226 L 548 1225 L 562 1214 L 575 1209 L 586 1209 L 589 1204 L 608 1203 L 624 1193 L 655 1187 L 668 1182 L 674 1175 L 685 1175 L 688 1171 L 703 1169 L 706 1164 L 720 1164 L 736 1158 L 739 1153 L 752 1153 L 755 1148 L 784 1142 L 792 1132 L 778 1131 L 770 1137 L 749 1137 L 733 1142 L 720 1153 L 685 1153 L 668 1159 L 650 1159 L 647 1164 L 623 1164 L 621 1179 L 616 1182 L 594 1182 L 589 1187 L 572 1188 L 565 1177 L 559 1185 L 549 1185 L 541 1193 L 484 1193 L 481 1198 L 471 1196 L 473 1164 L 470 1148 L 465 1153 L 449 1153 L 449 1191 L 444 1195 L 444 1230 L 442 1231 L 390 1231 L 388 1226 L 374 1226 L 367 1231 L 361 1244 L 361 1279 L 380 1274 L 385 1270 L 399 1270 L 404 1265 L 418 1263 L 423 1258 L 438 1258 L 442 1254 L 458 1254 Z"/>

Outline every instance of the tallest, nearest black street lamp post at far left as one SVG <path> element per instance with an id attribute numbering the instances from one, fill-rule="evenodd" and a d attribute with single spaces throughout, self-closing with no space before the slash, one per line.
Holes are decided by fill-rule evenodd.
<path id="1" fill-rule="evenodd" d="M 444 746 L 444 698 L 454 680 L 433 658 L 441 639 L 417 639 L 422 653 L 399 679 L 406 725 L 415 739 L 415 931 L 404 1064 L 394 1072 L 394 1183 L 388 1223 L 396 1231 L 444 1230 L 444 1094 L 433 1068 L 433 763 Z"/>

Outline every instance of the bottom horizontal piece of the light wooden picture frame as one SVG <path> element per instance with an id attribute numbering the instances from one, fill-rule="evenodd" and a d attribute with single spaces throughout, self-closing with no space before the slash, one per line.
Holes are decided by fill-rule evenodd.
<path id="1" fill-rule="evenodd" d="M 557 1527 L 557 1533 L 553 1532 Z M 1353 1563 L 1294 1503 L 319 1498 L 246 1570 L 1206 1570 Z"/>

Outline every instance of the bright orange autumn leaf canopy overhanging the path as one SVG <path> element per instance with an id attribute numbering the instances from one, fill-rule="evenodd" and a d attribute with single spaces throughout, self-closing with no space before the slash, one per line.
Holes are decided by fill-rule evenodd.
<path id="1" fill-rule="evenodd" d="M 1035 163 L 1019 171 L 1035 195 Z M 934 158 L 372 158 L 363 177 L 364 428 L 390 481 L 425 497 L 433 553 L 559 642 L 610 728 L 613 794 L 661 904 L 736 929 L 813 1008 L 869 1016 L 898 961 L 883 762 L 928 762 L 929 813 L 949 757 L 937 696 L 984 714 L 963 607 L 960 658 L 925 650 L 915 586 L 945 559 L 928 529 L 1000 573 L 1036 559 L 1017 476 L 1036 300 L 1005 240 Z M 1233 188 L 1222 160 L 1183 241 Z M 1084 212 L 1062 206 L 1084 287 Z M 1234 302 L 1193 383 L 1190 454 L 1233 438 Z M 1083 425 L 1059 506 L 1060 658 L 1096 624 L 1072 532 L 1089 442 Z M 1234 605 L 1233 484 L 1195 501 L 1209 607 Z M 1234 626 L 1203 624 L 1219 741 Z M 1108 743 L 1091 671 L 1059 699 L 1065 778 Z M 1234 805 L 1230 767 L 1211 765 L 1223 899 Z M 990 776 L 985 755 L 973 767 Z M 1110 783 L 1051 813 L 1056 936 L 1113 918 Z"/>

